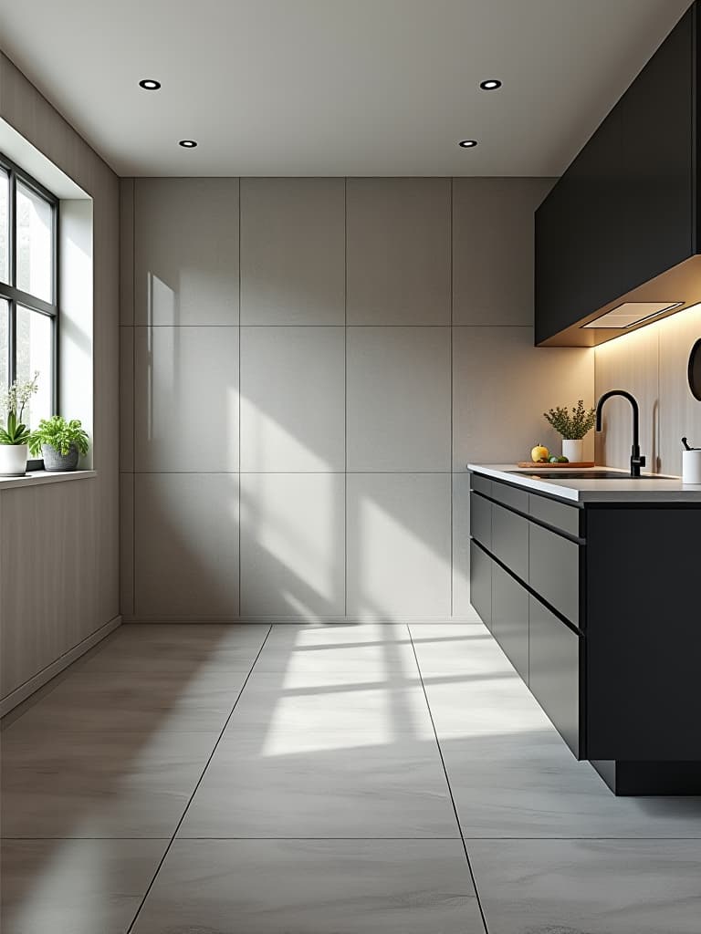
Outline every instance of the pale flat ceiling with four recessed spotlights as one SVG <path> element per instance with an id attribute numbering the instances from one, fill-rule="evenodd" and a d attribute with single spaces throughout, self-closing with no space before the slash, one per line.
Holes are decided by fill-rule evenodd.
<path id="1" fill-rule="evenodd" d="M 0 45 L 123 176 L 558 176 L 688 6 L 0 0 Z"/>

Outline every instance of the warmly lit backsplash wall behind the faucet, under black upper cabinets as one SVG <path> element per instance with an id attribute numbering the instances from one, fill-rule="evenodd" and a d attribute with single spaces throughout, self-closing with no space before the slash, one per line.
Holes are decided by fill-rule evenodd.
<path id="1" fill-rule="evenodd" d="M 652 471 L 681 473 L 681 438 L 701 447 L 701 403 L 687 377 L 689 354 L 701 338 L 701 306 L 649 324 L 596 349 L 596 396 L 627 389 L 640 405 L 640 448 Z M 631 410 L 624 400 L 606 403 L 603 435 L 597 439 L 600 463 L 627 467 Z"/>

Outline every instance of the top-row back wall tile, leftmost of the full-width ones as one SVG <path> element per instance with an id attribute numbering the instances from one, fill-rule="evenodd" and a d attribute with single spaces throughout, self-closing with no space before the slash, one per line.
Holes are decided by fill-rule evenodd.
<path id="1" fill-rule="evenodd" d="M 136 324 L 236 324 L 238 180 L 138 178 Z"/>

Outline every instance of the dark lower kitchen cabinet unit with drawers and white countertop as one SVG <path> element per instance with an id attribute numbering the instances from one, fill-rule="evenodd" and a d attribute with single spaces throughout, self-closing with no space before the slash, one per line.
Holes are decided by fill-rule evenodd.
<path id="1" fill-rule="evenodd" d="M 467 469 L 472 604 L 565 743 L 615 794 L 701 794 L 701 487 Z"/>

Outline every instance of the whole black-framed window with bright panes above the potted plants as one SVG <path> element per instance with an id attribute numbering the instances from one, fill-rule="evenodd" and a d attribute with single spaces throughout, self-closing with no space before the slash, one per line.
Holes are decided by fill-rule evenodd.
<path id="1" fill-rule="evenodd" d="M 0 154 L 0 385 L 38 372 L 31 428 L 57 411 L 57 224 L 58 200 Z"/>

